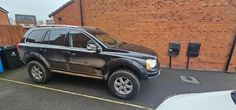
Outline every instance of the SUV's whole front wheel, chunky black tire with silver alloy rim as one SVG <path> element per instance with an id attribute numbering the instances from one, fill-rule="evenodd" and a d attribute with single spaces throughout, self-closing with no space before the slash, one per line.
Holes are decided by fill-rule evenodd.
<path id="1" fill-rule="evenodd" d="M 131 99 L 139 93 L 140 82 L 130 70 L 121 69 L 112 73 L 108 79 L 110 91 L 122 99 Z"/>

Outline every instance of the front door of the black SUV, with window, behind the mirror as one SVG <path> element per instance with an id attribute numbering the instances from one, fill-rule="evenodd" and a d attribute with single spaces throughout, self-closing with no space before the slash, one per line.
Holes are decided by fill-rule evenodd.
<path id="1" fill-rule="evenodd" d="M 101 75 L 101 68 L 105 65 L 103 56 L 96 51 L 87 50 L 87 44 L 96 44 L 87 34 L 81 31 L 69 33 L 71 55 L 68 65 L 71 72 L 89 75 Z"/>

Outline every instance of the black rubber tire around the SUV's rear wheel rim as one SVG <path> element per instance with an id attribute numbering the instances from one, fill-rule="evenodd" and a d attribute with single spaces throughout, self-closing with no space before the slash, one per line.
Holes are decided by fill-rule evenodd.
<path id="1" fill-rule="evenodd" d="M 36 78 L 33 75 L 33 73 L 32 73 L 33 67 L 37 67 L 40 70 L 40 72 L 41 72 L 40 78 Z M 28 72 L 31 80 L 36 83 L 46 83 L 52 76 L 51 73 L 48 71 L 48 69 L 45 68 L 45 66 L 38 61 L 30 61 L 27 65 L 27 72 Z"/>

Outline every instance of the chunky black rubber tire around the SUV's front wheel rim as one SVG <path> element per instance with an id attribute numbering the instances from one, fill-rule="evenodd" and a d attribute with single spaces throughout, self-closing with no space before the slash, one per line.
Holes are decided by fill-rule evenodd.
<path id="1" fill-rule="evenodd" d="M 130 93 L 121 94 L 118 92 L 119 89 L 117 90 L 117 87 L 115 87 L 115 82 L 119 78 L 129 79 L 129 81 L 131 82 L 131 85 L 132 85 L 132 90 Z M 111 74 L 111 76 L 108 79 L 108 87 L 109 87 L 111 93 L 113 95 L 115 95 L 116 97 L 121 98 L 121 99 L 131 99 L 139 93 L 140 82 L 139 82 L 138 78 L 136 77 L 136 75 L 132 71 L 126 70 L 126 69 L 121 69 L 121 70 L 117 70 Z M 124 87 L 124 85 L 123 85 L 123 87 Z M 126 91 L 128 90 L 127 88 L 125 88 L 125 89 L 126 89 Z"/>

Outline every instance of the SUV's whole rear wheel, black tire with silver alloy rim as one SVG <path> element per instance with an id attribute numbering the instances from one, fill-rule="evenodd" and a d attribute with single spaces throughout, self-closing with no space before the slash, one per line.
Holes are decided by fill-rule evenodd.
<path id="1" fill-rule="evenodd" d="M 46 83 L 51 78 L 51 73 L 38 61 L 30 61 L 27 71 L 30 78 L 36 83 Z"/>

